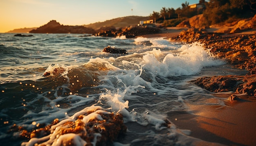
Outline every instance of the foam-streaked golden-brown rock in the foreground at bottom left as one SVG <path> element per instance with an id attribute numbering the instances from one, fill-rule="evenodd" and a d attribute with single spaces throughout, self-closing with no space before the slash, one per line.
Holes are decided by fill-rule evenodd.
<path id="1" fill-rule="evenodd" d="M 110 145 L 126 133 L 123 116 L 106 111 L 99 106 L 83 109 L 68 119 L 54 119 L 51 125 L 43 124 L 31 131 L 14 124 L 10 132 L 20 133 L 20 138 L 30 140 L 25 145 Z M 33 138 L 33 139 L 32 139 Z"/>

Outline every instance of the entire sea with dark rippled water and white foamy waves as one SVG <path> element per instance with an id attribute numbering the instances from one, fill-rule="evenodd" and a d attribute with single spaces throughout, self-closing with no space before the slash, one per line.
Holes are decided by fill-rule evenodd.
<path id="1" fill-rule="evenodd" d="M 192 106 L 226 106 L 227 99 L 215 97 L 191 80 L 245 74 L 216 58 L 199 42 L 184 44 L 164 38 L 81 34 L 32 35 L 14 37 L 13 33 L 0 33 L 2 146 L 57 146 L 64 139 L 71 139 L 75 145 L 86 144 L 81 133 L 57 131 L 65 127 L 62 124 L 50 127 L 54 133 L 31 140 L 20 138 L 21 131 L 10 129 L 15 124 L 29 131 L 49 125 L 54 119 L 60 123 L 74 122 L 76 115 L 83 115 L 88 124 L 85 111 L 95 108 L 98 113 L 92 117 L 103 120 L 99 113 L 121 114 L 127 127 L 124 135 L 107 145 L 218 145 L 190 136 L 193 131 L 174 124 L 179 121 L 176 115 L 193 115 Z M 128 54 L 102 52 L 107 46 L 126 49 Z M 101 132 L 102 129 L 94 133 L 94 137 L 103 137 Z M 91 144 L 96 141 L 97 138 L 93 139 Z"/>

